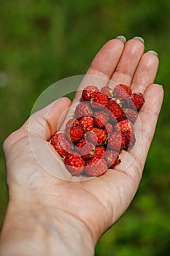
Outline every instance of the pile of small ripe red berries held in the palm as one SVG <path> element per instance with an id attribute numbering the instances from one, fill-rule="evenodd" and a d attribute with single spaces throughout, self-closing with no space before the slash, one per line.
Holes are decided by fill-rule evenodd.
<path id="1" fill-rule="evenodd" d="M 101 176 L 120 162 L 122 150 L 133 148 L 134 122 L 143 104 L 143 95 L 123 84 L 100 91 L 88 86 L 64 133 L 53 135 L 50 143 L 72 175 Z"/>

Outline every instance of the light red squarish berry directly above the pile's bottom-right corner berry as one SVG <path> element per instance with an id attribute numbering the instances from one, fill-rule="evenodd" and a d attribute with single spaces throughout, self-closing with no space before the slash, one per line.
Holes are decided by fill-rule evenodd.
<path id="1" fill-rule="evenodd" d="M 120 151 L 122 148 L 122 135 L 120 132 L 111 132 L 108 138 L 108 148 Z"/>

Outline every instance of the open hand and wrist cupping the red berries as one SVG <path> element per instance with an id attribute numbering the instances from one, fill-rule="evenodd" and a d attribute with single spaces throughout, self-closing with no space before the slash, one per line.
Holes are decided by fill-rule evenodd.
<path id="1" fill-rule="evenodd" d="M 51 176 L 36 161 L 31 140 L 50 165 L 48 140 L 71 102 L 61 98 L 34 113 L 4 143 L 9 206 L 1 231 L 1 255 L 93 255 L 98 238 L 119 219 L 133 199 L 142 178 L 163 100 L 163 89 L 153 84 L 158 56 L 144 53 L 144 44 L 131 39 L 107 42 L 97 53 L 87 75 L 124 83 L 144 94 L 139 111 L 141 140 L 121 153 L 115 170 L 87 181 L 64 181 Z M 74 102 L 79 99 L 77 96 Z M 29 129 L 31 122 L 31 129 Z M 51 146 L 52 147 L 52 146 Z M 43 152 L 41 150 L 43 149 Z M 123 167 L 126 159 L 131 164 Z M 58 172 L 61 167 L 56 165 Z"/>

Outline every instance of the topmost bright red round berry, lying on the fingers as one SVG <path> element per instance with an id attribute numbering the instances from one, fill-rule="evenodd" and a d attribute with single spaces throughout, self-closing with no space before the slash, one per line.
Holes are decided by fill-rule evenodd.
<path id="1" fill-rule="evenodd" d="M 129 96 L 131 96 L 131 88 L 129 86 L 126 86 L 125 84 L 118 84 L 113 89 L 115 97 L 118 99 L 124 100 L 128 99 Z"/>

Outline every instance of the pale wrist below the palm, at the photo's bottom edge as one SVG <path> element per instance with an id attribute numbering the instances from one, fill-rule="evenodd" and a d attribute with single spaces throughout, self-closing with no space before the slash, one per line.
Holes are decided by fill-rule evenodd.
<path id="1" fill-rule="evenodd" d="M 9 202 L 0 236 L 1 256 L 93 255 L 88 228 L 59 208 Z"/>

